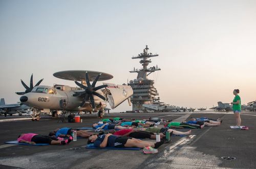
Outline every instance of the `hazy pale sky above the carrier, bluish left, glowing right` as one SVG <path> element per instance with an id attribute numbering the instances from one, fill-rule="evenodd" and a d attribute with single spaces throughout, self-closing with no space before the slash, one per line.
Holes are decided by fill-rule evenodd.
<path id="1" fill-rule="evenodd" d="M 75 87 L 52 74 L 93 70 L 116 84 L 136 78 L 148 45 L 161 101 L 184 107 L 256 99 L 256 1 L 0 0 L 0 98 L 19 101 L 20 78 Z M 101 85 L 98 82 L 97 85 Z M 131 110 L 125 101 L 115 112 Z"/>

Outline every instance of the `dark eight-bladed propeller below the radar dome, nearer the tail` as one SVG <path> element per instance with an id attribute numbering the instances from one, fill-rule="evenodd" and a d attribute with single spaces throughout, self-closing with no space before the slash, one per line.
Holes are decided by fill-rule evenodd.
<path id="1" fill-rule="evenodd" d="M 82 85 L 81 83 L 79 83 L 75 80 L 76 85 L 79 86 L 80 88 L 84 89 L 84 91 L 82 91 L 82 92 L 76 92 L 75 94 L 73 94 L 73 96 L 83 96 L 83 101 L 80 105 L 81 107 L 84 106 L 84 104 L 86 104 L 86 101 L 88 101 L 90 99 L 90 102 L 92 104 L 92 108 L 94 109 L 95 108 L 95 102 L 94 102 L 93 95 L 98 96 L 99 98 L 105 100 L 104 96 L 102 96 L 101 94 L 96 92 L 99 89 L 108 87 L 108 85 L 101 85 L 101 86 L 95 87 L 96 82 L 98 81 L 100 75 L 101 75 L 101 73 L 94 79 L 92 85 L 91 85 L 90 80 L 89 80 L 88 72 L 86 72 L 87 86 L 84 86 L 84 85 Z"/>

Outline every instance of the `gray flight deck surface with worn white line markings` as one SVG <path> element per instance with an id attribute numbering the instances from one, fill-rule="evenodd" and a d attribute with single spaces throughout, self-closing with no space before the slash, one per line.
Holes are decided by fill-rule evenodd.
<path id="1" fill-rule="evenodd" d="M 164 144 L 158 154 L 144 155 L 140 151 L 85 149 L 87 139 L 79 138 L 67 146 L 7 145 L 20 133 L 34 132 L 47 135 L 61 127 L 91 127 L 98 122 L 97 115 L 82 115 L 82 123 L 57 123 L 58 119 L 42 116 L 38 122 L 0 122 L 0 168 L 256 168 L 256 113 L 243 111 L 242 124 L 249 130 L 230 129 L 234 125 L 233 114 L 226 112 L 155 112 L 107 114 L 105 118 L 186 120 L 191 117 L 222 118 L 218 127 L 193 129 L 190 137 L 172 137 L 172 143 Z M 18 117 L 7 117 L 18 118 Z M 0 120 L 5 119 L 1 116 Z M 188 129 L 177 129 L 187 131 Z M 73 150 L 72 148 L 78 148 Z M 222 159 L 230 156 L 236 159 Z"/>

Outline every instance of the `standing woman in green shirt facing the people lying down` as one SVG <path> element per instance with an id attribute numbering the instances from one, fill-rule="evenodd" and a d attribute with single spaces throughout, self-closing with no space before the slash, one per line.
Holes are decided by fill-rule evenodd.
<path id="1" fill-rule="evenodd" d="M 237 121 L 237 128 L 240 128 L 241 126 L 241 118 L 240 118 L 240 113 L 241 113 L 241 98 L 238 95 L 239 94 L 239 89 L 235 89 L 233 91 L 234 94 L 234 99 L 231 104 L 233 105 L 233 111 L 234 111 L 234 117 L 236 118 Z"/>

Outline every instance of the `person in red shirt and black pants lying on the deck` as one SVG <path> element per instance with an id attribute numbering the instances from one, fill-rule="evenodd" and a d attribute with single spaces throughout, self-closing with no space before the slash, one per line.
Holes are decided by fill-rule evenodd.
<path id="1" fill-rule="evenodd" d="M 118 136 L 127 136 L 127 137 L 133 137 L 133 138 L 138 138 L 138 139 L 143 139 L 143 138 L 149 138 L 149 139 L 156 139 L 156 135 L 151 132 L 147 131 L 140 131 L 137 129 L 123 129 L 123 130 L 110 130 L 109 133 L 113 135 L 118 135 Z M 163 138 L 163 135 L 160 135 L 160 138 Z"/>

